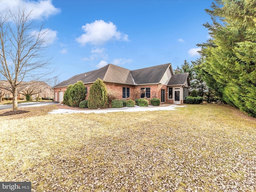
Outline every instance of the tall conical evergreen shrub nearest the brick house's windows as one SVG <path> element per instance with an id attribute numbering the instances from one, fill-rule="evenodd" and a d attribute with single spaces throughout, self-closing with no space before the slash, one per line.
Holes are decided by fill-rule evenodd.
<path id="1" fill-rule="evenodd" d="M 89 91 L 88 108 L 98 109 L 107 108 L 108 106 L 108 93 L 104 82 L 101 79 L 97 79 Z"/>

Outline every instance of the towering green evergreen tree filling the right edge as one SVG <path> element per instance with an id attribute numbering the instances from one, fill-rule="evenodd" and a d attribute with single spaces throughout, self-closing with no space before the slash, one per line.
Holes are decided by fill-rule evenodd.
<path id="1" fill-rule="evenodd" d="M 256 1 L 216 0 L 211 39 L 201 44 L 208 86 L 227 103 L 256 116 Z M 212 84 L 209 84 L 212 82 Z"/>

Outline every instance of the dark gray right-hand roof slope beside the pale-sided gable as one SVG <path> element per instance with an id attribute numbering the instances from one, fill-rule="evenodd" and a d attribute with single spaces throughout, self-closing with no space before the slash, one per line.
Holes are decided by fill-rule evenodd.
<path id="1" fill-rule="evenodd" d="M 132 70 L 131 74 L 136 84 L 159 83 L 170 63 Z"/>

